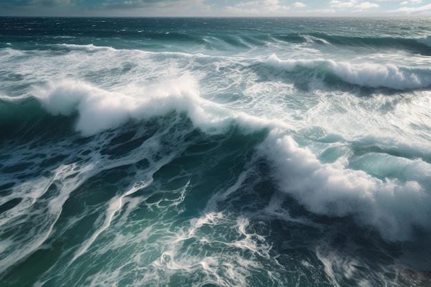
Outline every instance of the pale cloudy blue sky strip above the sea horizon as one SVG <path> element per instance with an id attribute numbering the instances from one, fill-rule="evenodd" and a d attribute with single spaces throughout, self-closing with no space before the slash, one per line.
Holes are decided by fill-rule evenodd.
<path id="1" fill-rule="evenodd" d="M 431 0 L 0 0 L 0 16 L 431 17 Z"/>

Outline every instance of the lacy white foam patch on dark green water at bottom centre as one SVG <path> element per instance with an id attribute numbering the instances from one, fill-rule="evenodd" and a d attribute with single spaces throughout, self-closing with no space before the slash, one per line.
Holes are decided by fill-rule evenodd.
<path id="1" fill-rule="evenodd" d="M 215 229 L 223 228 L 222 226 L 231 226 L 228 233 L 230 236 L 241 238 L 239 240 L 228 240 L 226 235 L 213 231 L 207 233 L 208 227 Z M 270 246 L 264 242 L 264 238 L 259 235 L 246 233 L 245 227 L 249 221 L 244 217 L 238 220 L 224 215 L 223 213 L 209 212 L 201 217 L 190 220 L 190 226 L 180 230 L 176 237 L 167 242 L 167 248 L 162 252 L 160 257 L 154 261 L 151 266 L 156 272 L 172 273 L 174 270 L 181 270 L 186 276 L 192 273 L 203 274 L 206 281 L 218 286 L 246 286 L 249 282 L 247 277 L 251 270 L 262 268 L 258 262 L 253 259 L 246 259 L 241 256 L 235 256 L 224 253 L 229 251 L 251 251 L 254 256 L 269 259 Z M 257 244 L 261 240 L 263 243 Z M 188 246 L 187 253 L 181 252 L 183 244 L 191 241 L 196 242 Z M 218 246 L 219 250 L 213 252 L 196 254 L 202 246 Z M 192 249 L 196 248 L 193 252 Z"/>

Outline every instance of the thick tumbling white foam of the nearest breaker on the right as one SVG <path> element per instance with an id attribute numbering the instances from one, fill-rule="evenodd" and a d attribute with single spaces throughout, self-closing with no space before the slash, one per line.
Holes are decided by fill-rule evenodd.
<path id="1" fill-rule="evenodd" d="M 348 169 L 342 159 L 322 164 L 309 149 L 276 130 L 262 152 L 273 162 L 280 188 L 313 213 L 353 215 L 359 224 L 374 227 L 390 241 L 408 240 L 414 226 L 430 231 L 430 164 L 422 162 L 423 176 L 406 174 L 406 182 L 378 180 Z"/>

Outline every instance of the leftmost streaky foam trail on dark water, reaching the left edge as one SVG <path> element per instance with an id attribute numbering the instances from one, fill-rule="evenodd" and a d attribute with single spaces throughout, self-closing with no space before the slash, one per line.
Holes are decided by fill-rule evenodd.
<path id="1" fill-rule="evenodd" d="M 21 246 L 21 240 L 6 241 L 4 247 L 8 252 L 0 257 L 0 274 L 6 268 L 19 262 L 36 251 L 51 235 L 59 216 L 61 215 L 62 206 L 69 197 L 70 193 L 81 185 L 87 178 L 90 178 L 94 173 L 93 164 L 86 167 L 81 167 L 81 173 L 77 179 L 67 180 L 68 177 L 76 174 L 76 165 L 59 167 L 55 172 L 55 176 L 46 182 L 46 180 L 35 180 L 25 182 L 17 187 L 14 187 L 14 197 L 22 196 L 24 199 L 13 209 L 3 213 L 1 218 L 1 227 L 8 228 L 10 224 L 25 228 L 25 217 L 31 216 L 29 219 L 32 226 L 32 231 L 25 234 L 27 244 Z M 59 184 L 56 192 L 45 195 L 49 192 L 52 184 Z M 51 191 L 52 192 L 52 191 Z M 45 195 L 45 196 L 44 196 Z M 5 198 L 1 198 L 4 200 Z M 13 239 L 13 237 L 12 237 Z"/>

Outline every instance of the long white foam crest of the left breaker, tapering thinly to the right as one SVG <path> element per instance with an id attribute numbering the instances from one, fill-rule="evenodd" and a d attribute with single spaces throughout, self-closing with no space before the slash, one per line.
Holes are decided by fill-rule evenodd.
<path id="1" fill-rule="evenodd" d="M 222 130 L 232 120 L 253 129 L 293 128 L 279 119 L 251 116 L 200 98 L 198 84 L 189 75 L 129 87 L 125 94 L 72 80 L 50 82 L 37 87 L 34 94 L 51 114 L 70 116 L 77 112 L 76 130 L 86 136 L 118 127 L 127 120 L 164 116 L 171 111 L 186 111 L 193 124 L 207 132 Z"/>

